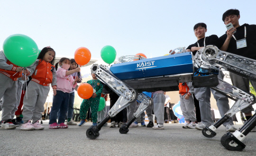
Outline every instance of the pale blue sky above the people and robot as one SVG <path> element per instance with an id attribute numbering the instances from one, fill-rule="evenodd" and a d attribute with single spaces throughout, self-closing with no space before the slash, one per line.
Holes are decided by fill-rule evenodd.
<path id="1" fill-rule="evenodd" d="M 24 34 L 57 56 L 83 46 L 100 58 L 111 45 L 117 57 L 158 57 L 195 43 L 196 23 L 207 24 L 206 35 L 223 35 L 228 9 L 240 10 L 240 25 L 256 24 L 255 6 L 255 0 L 0 0 L 0 49 L 9 35 Z"/>

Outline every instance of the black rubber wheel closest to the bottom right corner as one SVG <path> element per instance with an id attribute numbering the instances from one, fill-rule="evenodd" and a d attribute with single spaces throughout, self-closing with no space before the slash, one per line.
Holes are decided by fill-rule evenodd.
<path id="1" fill-rule="evenodd" d="M 221 137 L 221 145 L 231 151 L 242 151 L 245 147 L 241 146 L 239 143 L 236 143 L 230 134 L 231 133 L 226 133 Z"/>

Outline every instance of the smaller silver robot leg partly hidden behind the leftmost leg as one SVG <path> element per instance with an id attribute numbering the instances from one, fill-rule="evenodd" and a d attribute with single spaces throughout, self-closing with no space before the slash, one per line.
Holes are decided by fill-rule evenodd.
<path id="1" fill-rule="evenodd" d="M 126 134 L 126 133 L 129 131 L 128 128 L 129 128 L 129 126 L 132 124 L 132 122 L 135 121 L 135 119 L 136 119 L 141 113 L 143 113 L 143 112 L 147 109 L 147 107 L 148 107 L 150 104 L 153 103 L 152 99 L 151 99 L 149 96 L 145 95 L 144 93 L 139 93 L 137 100 L 140 102 L 140 105 L 139 105 L 137 111 L 133 114 L 133 118 L 132 118 L 130 121 L 128 121 L 127 124 L 124 124 L 124 125 L 119 129 L 119 132 L 120 132 L 121 134 Z"/>

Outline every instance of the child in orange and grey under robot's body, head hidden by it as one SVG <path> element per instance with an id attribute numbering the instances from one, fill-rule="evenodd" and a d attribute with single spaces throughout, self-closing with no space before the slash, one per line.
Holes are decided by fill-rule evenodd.
<path id="1" fill-rule="evenodd" d="M 194 87 L 192 86 L 192 82 L 180 83 L 179 84 L 179 94 L 180 94 L 180 102 L 181 102 L 181 110 L 185 119 L 185 124 L 183 128 L 191 128 L 194 129 L 196 124 L 195 118 L 195 106 L 194 106 Z M 191 123 L 190 123 L 191 121 Z"/>

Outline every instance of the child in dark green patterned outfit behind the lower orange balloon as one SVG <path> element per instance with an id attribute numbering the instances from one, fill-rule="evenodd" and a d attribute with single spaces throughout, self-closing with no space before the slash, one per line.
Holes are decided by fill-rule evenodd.
<path id="1" fill-rule="evenodd" d="M 89 99 L 83 99 L 82 104 L 80 106 L 80 118 L 81 122 L 78 126 L 82 126 L 85 123 L 86 114 L 89 109 L 91 108 L 91 118 L 92 118 L 92 125 L 97 126 L 97 111 L 99 110 L 101 92 L 103 89 L 103 85 L 101 81 L 96 78 L 95 74 L 91 74 L 92 79 L 87 81 L 93 88 L 93 94 Z"/>

